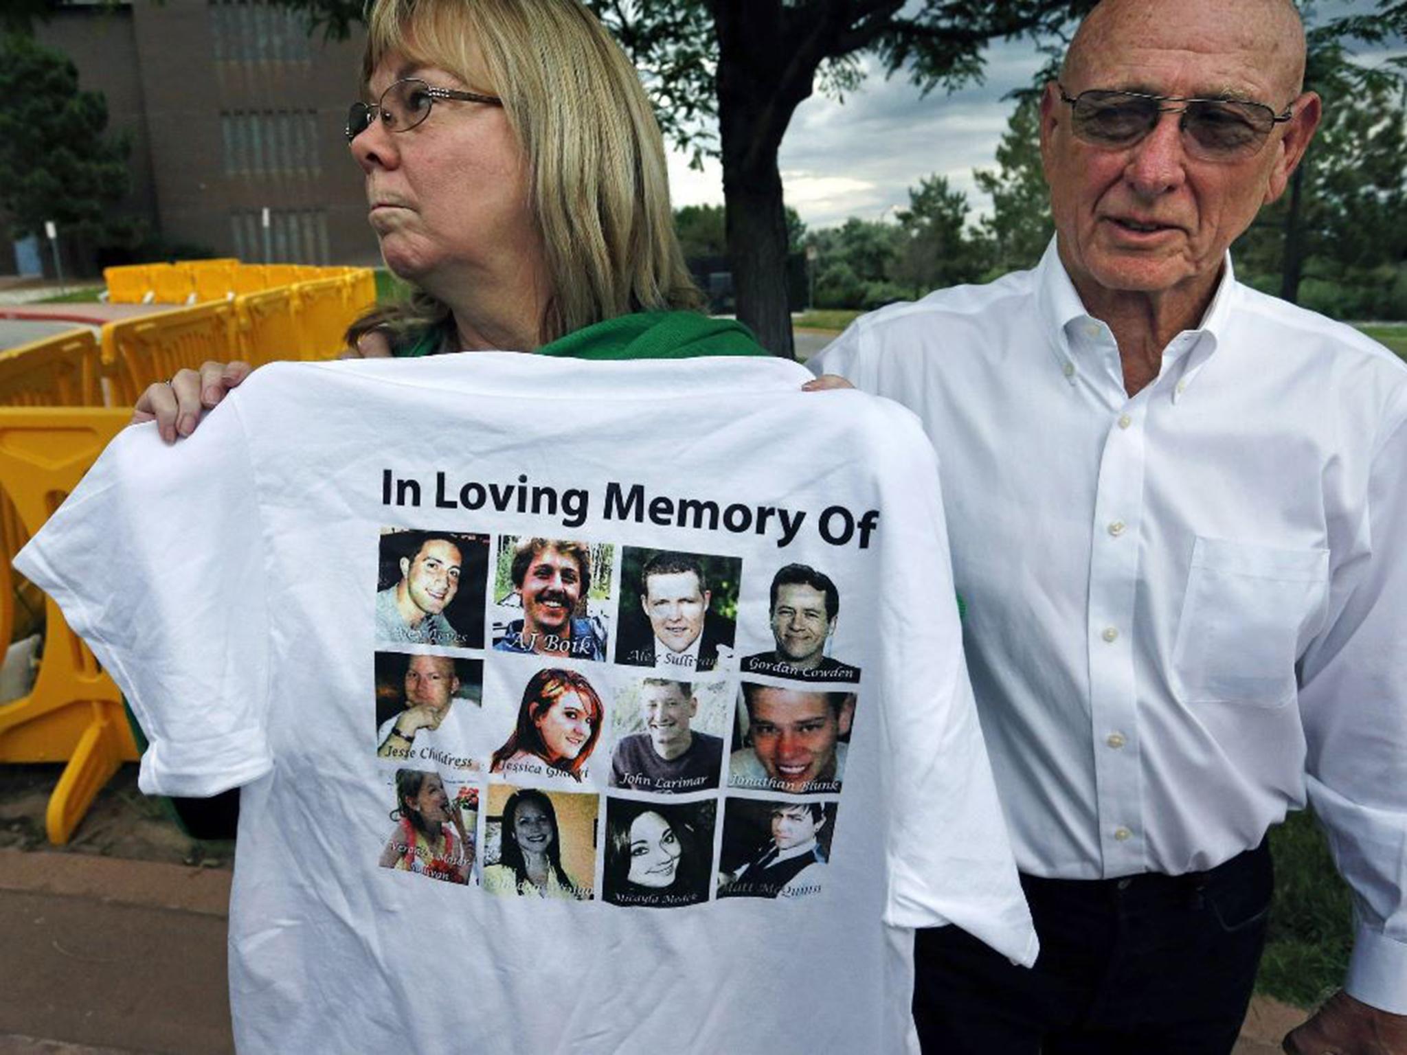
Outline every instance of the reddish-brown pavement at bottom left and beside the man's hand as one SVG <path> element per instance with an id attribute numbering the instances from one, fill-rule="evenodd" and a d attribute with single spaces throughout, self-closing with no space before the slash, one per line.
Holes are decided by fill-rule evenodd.
<path id="1" fill-rule="evenodd" d="M 234 1051 L 229 878 L 218 868 L 0 850 L 0 1055 Z M 1304 1017 L 1256 997 L 1234 1055 L 1276 1055 Z"/>

